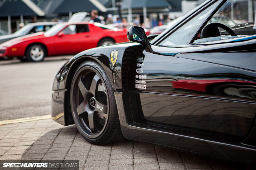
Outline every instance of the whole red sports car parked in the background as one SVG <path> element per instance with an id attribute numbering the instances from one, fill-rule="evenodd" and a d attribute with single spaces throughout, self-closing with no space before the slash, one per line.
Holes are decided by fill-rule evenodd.
<path id="1" fill-rule="evenodd" d="M 21 36 L 0 44 L 0 57 L 40 62 L 45 56 L 76 54 L 89 48 L 126 41 L 125 30 L 99 23 L 60 23 L 44 33 Z"/>

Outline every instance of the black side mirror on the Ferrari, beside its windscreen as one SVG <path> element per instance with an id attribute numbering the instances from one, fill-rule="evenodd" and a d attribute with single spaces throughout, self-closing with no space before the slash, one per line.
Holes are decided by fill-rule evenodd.
<path id="1" fill-rule="evenodd" d="M 127 38 L 130 41 L 142 44 L 147 52 L 152 51 L 151 45 L 148 41 L 148 37 L 145 33 L 145 30 L 142 27 L 131 26 L 127 32 Z"/>

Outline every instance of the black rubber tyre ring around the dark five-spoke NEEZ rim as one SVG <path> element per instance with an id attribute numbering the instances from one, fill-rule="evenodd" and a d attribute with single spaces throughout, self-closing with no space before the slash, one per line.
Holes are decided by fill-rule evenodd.
<path id="1" fill-rule="evenodd" d="M 73 89 L 74 89 L 74 86 L 76 86 L 77 74 L 82 68 L 87 67 L 87 66 L 95 69 L 98 72 L 98 74 L 101 77 L 101 80 L 103 80 L 103 83 L 104 83 L 104 85 L 106 87 L 106 91 L 107 91 L 107 99 L 108 99 L 108 119 L 106 122 L 107 124 L 106 124 L 105 129 L 103 130 L 102 134 L 96 138 L 89 138 L 84 134 L 83 127 L 80 127 L 81 123 L 78 122 L 79 120 L 77 118 L 77 114 L 73 108 Z M 112 93 L 113 93 L 113 89 L 111 87 L 110 80 L 109 80 L 107 74 L 105 73 L 104 69 L 102 68 L 102 66 L 99 65 L 97 62 L 88 60 L 86 62 L 83 62 L 78 67 L 78 69 L 76 69 L 76 72 L 72 79 L 71 88 L 70 88 L 70 107 L 71 107 L 71 111 L 72 111 L 72 116 L 73 116 L 73 120 L 75 122 L 76 128 L 78 129 L 78 131 L 80 132 L 82 137 L 84 137 L 85 140 L 87 140 L 93 144 L 101 143 L 108 137 L 108 135 L 110 133 L 111 126 L 112 126 L 111 120 L 113 119 L 112 111 L 113 111 L 113 103 L 114 103 L 113 98 L 112 98 L 112 96 L 113 96 Z"/>

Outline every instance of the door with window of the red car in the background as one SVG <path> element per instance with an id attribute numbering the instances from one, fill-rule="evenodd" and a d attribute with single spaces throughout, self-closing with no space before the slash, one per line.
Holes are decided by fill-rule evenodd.
<path id="1" fill-rule="evenodd" d="M 55 36 L 57 54 L 75 54 L 92 48 L 92 36 L 87 24 L 72 24 Z"/>

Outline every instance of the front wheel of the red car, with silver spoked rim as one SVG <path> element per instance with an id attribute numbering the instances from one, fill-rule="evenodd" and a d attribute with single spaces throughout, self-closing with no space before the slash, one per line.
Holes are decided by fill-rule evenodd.
<path id="1" fill-rule="evenodd" d="M 41 62 L 46 56 L 46 49 L 41 44 L 33 44 L 27 48 L 26 58 L 29 62 Z"/>

